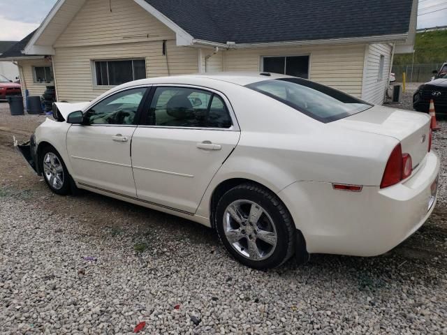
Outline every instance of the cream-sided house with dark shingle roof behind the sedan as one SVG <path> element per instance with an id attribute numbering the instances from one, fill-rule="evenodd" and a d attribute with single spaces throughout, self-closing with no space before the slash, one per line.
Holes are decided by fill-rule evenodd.
<path id="1" fill-rule="evenodd" d="M 416 0 L 59 0 L 0 58 L 23 89 L 92 100 L 142 77 L 286 73 L 384 100 L 396 45 L 412 50 Z M 404 46 L 404 47 L 402 47 Z"/>

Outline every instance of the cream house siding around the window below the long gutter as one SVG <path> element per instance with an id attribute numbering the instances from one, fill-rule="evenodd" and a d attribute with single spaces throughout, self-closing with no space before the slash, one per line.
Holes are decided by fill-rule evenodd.
<path id="1" fill-rule="evenodd" d="M 310 80 L 334 87 L 353 96 L 362 94 L 365 45 L 312 47 L 265 47 L 228 50 L 226 71 L 260 71 L 263 56 L 310 56 Z"/>

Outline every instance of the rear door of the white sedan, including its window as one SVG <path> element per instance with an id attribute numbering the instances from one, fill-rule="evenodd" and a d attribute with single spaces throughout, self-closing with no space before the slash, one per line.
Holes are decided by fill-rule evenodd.
<path id="1" fill-rule="evenodd" d="M 137 197 L 194 213 L 239 141 L 237 121 L 217 91 L 159 86 L 151 96 L 132 140 Z"/>

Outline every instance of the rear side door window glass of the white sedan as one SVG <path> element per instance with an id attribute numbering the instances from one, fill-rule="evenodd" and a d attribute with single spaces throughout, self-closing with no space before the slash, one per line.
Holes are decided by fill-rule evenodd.
<path id="1" fill-rule="evenodd" d="M 168 127 L 230 128 L 222 98 L 201 89 L 157 87 L 147 124 Z"/>

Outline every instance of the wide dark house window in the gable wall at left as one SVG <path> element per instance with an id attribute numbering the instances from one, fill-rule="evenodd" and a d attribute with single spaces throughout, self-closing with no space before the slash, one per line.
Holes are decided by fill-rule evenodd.
<path id="1" fill-rule="evenodd" d="M 144 59 L 95 61 L 96 85 L 119 85 L 146 77 Z"/>

